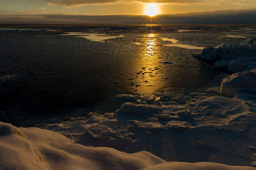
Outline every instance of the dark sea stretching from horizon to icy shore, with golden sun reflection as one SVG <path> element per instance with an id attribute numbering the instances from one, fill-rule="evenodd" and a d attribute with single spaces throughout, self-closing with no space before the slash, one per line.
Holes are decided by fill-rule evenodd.
<path id="1" fill-rule="evenodd" d="M 223 72 L 192 54 L 241 42 L 256 31 L 251 25 L 2 27 L 0 121 L 23 126 L 78 107 L 113 112 L 120 104 L 111 97 L 119 93 L 147 96 L 163 88 L 211 86 Z"/>

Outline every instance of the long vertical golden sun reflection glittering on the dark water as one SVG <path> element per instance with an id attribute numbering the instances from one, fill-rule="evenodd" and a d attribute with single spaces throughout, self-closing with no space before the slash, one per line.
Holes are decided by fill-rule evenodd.
<path id="1" fill-rule="evenodd" d="M 161 71 L 160 54 L 159 54 L 159 40 L 156 34 L 145 34 L 140 40 L 140 47 L 138 48 L 138 60 L 134 62 L 136 78 L 134 79 L 134 90 L 141 95 L 152 95 L 161 84 L 161 78 L 158 74 Z M 136 43 L 138 44 L 138 43 Z M 154 88 L 153 88 L 154 87 Z"/>

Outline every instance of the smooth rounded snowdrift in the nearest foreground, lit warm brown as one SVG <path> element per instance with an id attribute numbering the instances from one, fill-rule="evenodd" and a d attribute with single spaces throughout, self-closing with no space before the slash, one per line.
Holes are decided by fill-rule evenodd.
<path id="1" fill-rule="evenodd" d="M 126 154 L 107 147 L 85 147 L 50 130 L 2 122 L 0 160 L 3 170 L 256 170 L 206 162 L 166 163 L 149 152 Z"/>

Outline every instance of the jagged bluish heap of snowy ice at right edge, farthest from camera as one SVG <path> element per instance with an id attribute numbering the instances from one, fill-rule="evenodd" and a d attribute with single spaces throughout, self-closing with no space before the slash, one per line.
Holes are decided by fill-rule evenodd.
<path id="1" fill-rule="evenodd" d="M 194 56 L 230 72 L 249 71 L 256 68 L 256 38 L 248 38 L 241 44 L 207 47 Z"/>

